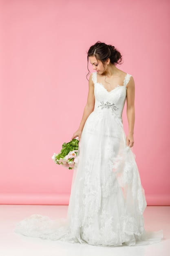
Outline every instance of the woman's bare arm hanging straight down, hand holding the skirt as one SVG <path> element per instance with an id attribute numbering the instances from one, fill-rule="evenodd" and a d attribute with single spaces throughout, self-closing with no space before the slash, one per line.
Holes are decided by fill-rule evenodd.
<path id="1" fill-rule="evenodd" d="M 135 125 L 135 82 L 133 77 L 130 77 L 130 81 L 127 85 L 127 118 L 129 125 L 128 136 L 126 137 L 127 146 L 132 147 L 134 144 L 133 132 Z"/>

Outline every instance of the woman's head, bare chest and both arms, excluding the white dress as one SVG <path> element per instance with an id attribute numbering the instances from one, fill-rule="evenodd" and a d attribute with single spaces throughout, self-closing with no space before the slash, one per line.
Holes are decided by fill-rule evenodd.
<path id="1" fill-rule="evenodd" d="M 97 42 L 95 45 L 91 46 L 88 50 L 88 59 L 93 66 L 93 70 L 97 72 L 97 81 L 101 83 L 103 87 L 111 92 L 114 90 L 117 85 L 124 84 L 124 79 L 126 73 L 119 70 L 115 65 L 121 62 L 121 54 L 115 49 L 114 46 L 106 45 L 105 43 Z M 80 123 L 79 129 L 74 133 L 73 138 L 81 137 L 84 124 L 88 116 L 93 112 L 95 106 L 95 95 L 94 95 L 94 74 L 91 74 L 89 79 L 89 92 L 87 104 L 84 108 L 84 115 Z M 133 139 L 133 130 L 135 123 L 135 84 L 134 80 L 131 77 L 128 85 L 126 86 L 127 90 L 127 117 L 129 123 L 129 133 L 127 136 L 127 146 L 132 147 L 134 144 Z M 95 79 L 95 78 L 94 78 Z"/>

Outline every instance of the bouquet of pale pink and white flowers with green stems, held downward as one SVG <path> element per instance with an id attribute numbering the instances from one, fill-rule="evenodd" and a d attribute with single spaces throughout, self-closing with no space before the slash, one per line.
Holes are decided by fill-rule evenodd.
<path id="1" fill-rule="evenodd" d="M 52 159 L 56 164 L 62 164 L 68 169 L 73 169 L 75 163 L 78 162 L 77 152 L 78 152 L 79 140 L 78 137 L 72 139 L 68 143 L 62 144 L 62 150 L 58 154 L 53 154 Z"/>

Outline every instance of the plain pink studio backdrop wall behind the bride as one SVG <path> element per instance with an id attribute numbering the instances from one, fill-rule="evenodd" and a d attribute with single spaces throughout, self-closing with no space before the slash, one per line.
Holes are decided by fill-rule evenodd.
<path id="1" fill-rule="evenodd" d="M 51 156 L 79 126 L 86 51 L 100 40 L 135 79 L 147 202 L 170 204 L 170 1 L 1 0 L 0 17 L 0 203 L 68 204 L 73 171 Z"/>

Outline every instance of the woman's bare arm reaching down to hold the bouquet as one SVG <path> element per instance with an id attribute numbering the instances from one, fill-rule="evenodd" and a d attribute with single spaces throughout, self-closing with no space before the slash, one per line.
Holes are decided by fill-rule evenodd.
<path id="1" fill-rule="evenodd" d="M 82 135 L 82 130 L 84 128 L 84 124 L 85 124 L 88 116 L 94 110 L 95 95 L 94 95 L 94 83 L 92 81 L 92 74 L 90 75 L 89 83 L 88 84 L 89 84 L 88 97 L 87 97 L 86 106 L 84 108 L 84 113 L 83 113 L 82 121 L 80 122 L 78 130 L 73 134 L 72 139 L 74 139 L 75 137 L 79 137 L 79 139 L 80 139 L 80 137 Z"/>

